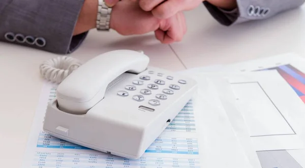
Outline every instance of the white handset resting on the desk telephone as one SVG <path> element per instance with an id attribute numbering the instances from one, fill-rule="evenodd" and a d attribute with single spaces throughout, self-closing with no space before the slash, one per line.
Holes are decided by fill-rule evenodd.
<path id="1" fill-rule="evenodd" d="M 146 55 L 132 50 L 115 50 L 89 60 L 58 86 L 59 109 L 71 114 L 85 114 L 104 98 L 111 81 L 125 72 L 138 74 L 147 68 L 148 63 Z"/>

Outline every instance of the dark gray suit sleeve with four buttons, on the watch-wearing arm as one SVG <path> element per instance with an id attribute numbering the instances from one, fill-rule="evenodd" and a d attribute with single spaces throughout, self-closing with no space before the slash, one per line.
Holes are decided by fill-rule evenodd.
<path id="1" fill-rule="evenodd" d="M 0 41 L 53 53 L 73 52 L 87 32 L 73 36 L 84 0 L 0 0 Z"/>

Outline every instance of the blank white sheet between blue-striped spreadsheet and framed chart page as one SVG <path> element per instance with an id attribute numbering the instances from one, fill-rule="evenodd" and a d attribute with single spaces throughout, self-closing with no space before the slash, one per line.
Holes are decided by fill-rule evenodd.
<path id="1" fill-rule="evenodd" d="M 205 109 L 202 113 L 196 114 L 201 121 L 198 124 L 204 140 L 201 144 L 204 148 L 202 167 L 261 167 L 255 151 L 245 151 L 242 146 L 246 145 L 247 149 L 251 149 L 250 141 L 242 140 L 241 144 L 237 137 L 239 135 L 235 134 L 217 94 L 215 82 L 200 76 L 193 77 L 199 85 L 198 99 L 194 100 L 195 108 Z"/>

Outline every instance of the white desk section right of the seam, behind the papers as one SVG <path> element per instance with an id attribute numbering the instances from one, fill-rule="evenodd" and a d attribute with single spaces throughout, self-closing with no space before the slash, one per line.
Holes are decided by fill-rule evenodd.
<path id="1" fill-rule="evenodd" d="M 186 68 L 295 52 L 305 57 L 305 5 L 266 20 L 220 25 L 205 7 L 186 12 L 188 32 L 171 47 Z"/>

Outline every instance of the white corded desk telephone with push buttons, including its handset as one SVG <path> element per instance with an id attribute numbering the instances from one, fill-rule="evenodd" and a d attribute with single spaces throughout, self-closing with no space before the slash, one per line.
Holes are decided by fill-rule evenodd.
<path id="1" fill-rule="evenodd" d="M 138 51 L 98 55 L 67 76 L 43 130 L 97 151 L 137 159 L 192 98 L 195 80 L 148 67 Z"/>

